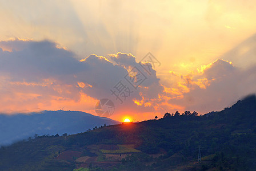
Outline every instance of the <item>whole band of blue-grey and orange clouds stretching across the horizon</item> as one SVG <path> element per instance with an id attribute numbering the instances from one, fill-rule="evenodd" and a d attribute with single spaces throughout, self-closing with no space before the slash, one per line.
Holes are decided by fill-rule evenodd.
<path id="1" fill-rule="evenodd" d="M 172 83 L 163 84 L 150 63 L 139 63 L 132 54 L 78 60 L 48 40 L 13 39 L 0 47 L 5 49 L 0 48 L 0 112 L 5 113 L 64 107 L 96 115 L 95 104 L 107 98 L 115 104 L 112 119 L 145 120 L 177 110 L 221 110 L 255 92 L 256 67 L 239 68 L 223 59 L 187 75 L 170 71 Z"/>

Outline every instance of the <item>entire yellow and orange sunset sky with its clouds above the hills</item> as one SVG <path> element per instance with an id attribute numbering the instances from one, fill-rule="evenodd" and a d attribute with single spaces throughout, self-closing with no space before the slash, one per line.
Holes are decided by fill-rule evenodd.
<path id="1" fill-rule="evenodd" d="M 0 112 L 220 111 L 255 93 L 255 17 L 254 1 L 0 0 Z"/>

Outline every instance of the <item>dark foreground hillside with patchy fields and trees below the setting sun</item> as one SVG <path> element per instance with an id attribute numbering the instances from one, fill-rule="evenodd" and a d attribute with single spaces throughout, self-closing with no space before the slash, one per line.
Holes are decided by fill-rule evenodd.
<path id="1" fill-rule="evenodd" d="M 254 170 L 255 95 L 209 115 L 39 136 L 0 150 L 0 170 Z M 198 146 L 202 162 L 198 160 Z"/>

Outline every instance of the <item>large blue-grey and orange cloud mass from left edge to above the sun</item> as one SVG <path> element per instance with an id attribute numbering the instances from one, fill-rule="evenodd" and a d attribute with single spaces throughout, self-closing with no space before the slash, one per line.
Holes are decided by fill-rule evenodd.
<path id="1" fill-rule="evenodd" d="M 109 59 L 93 54 L 77 60 L 73 52 L 48 40 L 13 39 L 0 42 L 0 47 L 9 49 L 0 49 L 1 112 L 65 107 L 95 114 L 97 100 L 109 98 L 116 105 L 113 117 L 119 119 L 123 113 L 151 112 L 154 115 L 163 101 L 160 97 L 164 87 L 156 71 L 150 63 L 140 65 L 131 54 L 110 54 Z M 135 87 L 131 80 L 141 78 L 131 74 L 134 67 L 137 74 L 143 76 L 143 82 Z M 145 67 L 150 69 L 150 74 Z M 126 89 L 126 96 L 118 96 L 122 104 L 111 92 L 117 93 L 118 83 L 130 91 Z M 142 118 L 147 116 L 137 116 L 137 119 Z"/>

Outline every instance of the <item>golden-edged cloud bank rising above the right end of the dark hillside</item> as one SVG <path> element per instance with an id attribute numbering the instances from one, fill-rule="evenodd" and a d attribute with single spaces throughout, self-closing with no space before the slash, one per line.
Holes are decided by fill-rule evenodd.
<path id="1" fill-rule="evenodd" d="M 227 60 L 217 59 L 189 75 L 181 76 L 176 85 L 179 93 L 173 95 L 182 95 L 182 98 L 170 99 L 169 103 L 183 105 L 186 110 L 201 114 L 218 111 L 243 96 L 255 93 L 255 78 L 255 66 L 244 70 Z"/>

